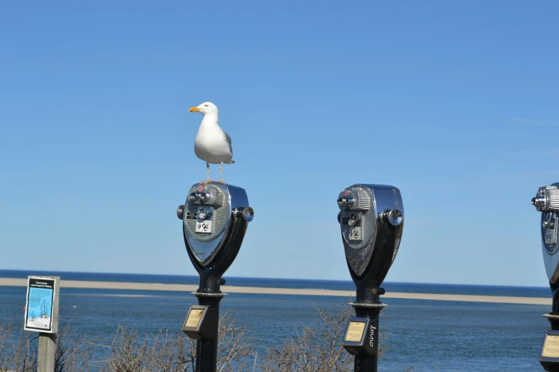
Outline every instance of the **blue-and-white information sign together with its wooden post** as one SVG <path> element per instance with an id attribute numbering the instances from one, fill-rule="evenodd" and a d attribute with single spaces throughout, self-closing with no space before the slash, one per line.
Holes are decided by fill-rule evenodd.
<path id="1" fill-rule="evenodd" d="M 60 277 L 27 278 L 26 331 L 39 332 L 37 372 L 54 372 L 56 333 L 59 327 Z"/>

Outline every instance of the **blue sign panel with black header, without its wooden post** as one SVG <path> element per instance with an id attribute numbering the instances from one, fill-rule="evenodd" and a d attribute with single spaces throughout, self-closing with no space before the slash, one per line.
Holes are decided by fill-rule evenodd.
<path id="1" fill-rule="evenodd" d="M 56 333 L 58 316 L 58 277 L 33 277 L 27 279 L 25 304 L 26 331 Z"/>

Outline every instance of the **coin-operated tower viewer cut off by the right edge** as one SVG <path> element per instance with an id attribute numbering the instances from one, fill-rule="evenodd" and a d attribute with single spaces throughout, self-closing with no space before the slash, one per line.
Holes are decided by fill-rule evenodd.
<path id="1" fill-rule="evenodd" d="M 544 314 L 551 324 L 545 332 L 539 361 L 545 371 L 559 371 L 559 183 L 540 187 L 532 205 L 541 212 L 543 264 L 553 296 L 552 309 Z"/>

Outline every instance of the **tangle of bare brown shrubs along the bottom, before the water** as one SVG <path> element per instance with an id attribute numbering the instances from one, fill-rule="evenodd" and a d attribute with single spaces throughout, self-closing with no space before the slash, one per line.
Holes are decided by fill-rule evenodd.
<path id="1" fill-rule="evenodd" d="M 316 309 L 314 326 L 295 329 L 281 346 L 266 348 L 258 356 L 256 336 L 238 325 L 231 312 L 220 316 L 217 371 L 331 372 L 353 371 L 353 356 L 342 346 L 353 309 L 331 306 Z M 19 321 L 0 324 L 0 372 L 31 372 L 37 368 L 38 337 Z M 386 351 L 386 334 L 380 335 L 379 357 Z M 183 332 L 139 334 L 136 328 L 119 326 L 112 339 L 89 339 L 71 321 L 59 330 L 56 340 L 56 372 L 188 372 L 195 371 L 196 341 Z M 94 361 L 94 353 L 104 354 Z M 411 368 L 407 371 L 411 371 Z"/>

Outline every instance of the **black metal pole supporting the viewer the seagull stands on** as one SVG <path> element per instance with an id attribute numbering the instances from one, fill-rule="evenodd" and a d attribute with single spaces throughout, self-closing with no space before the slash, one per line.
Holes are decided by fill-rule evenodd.
<path id="1" fill-rule="evenodd" d="M 223 293 L 200 293 L 196 292 L 198 304 L 209 306 L 206 319 L 209 324 L 214 324 L 216 329 L 213 334 L 216 338 L 196 341 L 196 372 L 216 372 L 218 358 L 218 329 L 219 329 L 219 301 L 223 299 Z"/>

